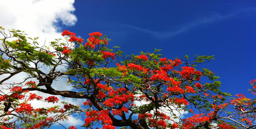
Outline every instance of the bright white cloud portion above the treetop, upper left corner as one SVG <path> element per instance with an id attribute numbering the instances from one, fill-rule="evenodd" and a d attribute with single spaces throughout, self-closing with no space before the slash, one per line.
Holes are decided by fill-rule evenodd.
<path id="1" fill-rule="evenodd" d="M 74 0 L 2 0 L 0 26 L 19 29 L 30 37 L 39 36 L 39 44 L 62 38 L 57 23 L 75 25 Z M 62 30 L 61 30 L 62 31 Z"/>

